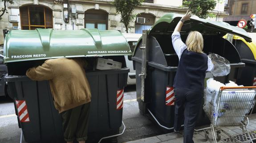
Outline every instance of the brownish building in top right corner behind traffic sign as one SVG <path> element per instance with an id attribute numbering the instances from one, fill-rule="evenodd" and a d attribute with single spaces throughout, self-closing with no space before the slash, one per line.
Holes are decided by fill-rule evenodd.
<path id="1" fill-rule="evenodd" d="M 223 18 L 223 21 L 236 26 L 237 23 L 244 19 L 248 22 L 251 20 L 250 15 L 256 14 L 256 0 L 226 0 L 225 12 L 229 15 Z"/>

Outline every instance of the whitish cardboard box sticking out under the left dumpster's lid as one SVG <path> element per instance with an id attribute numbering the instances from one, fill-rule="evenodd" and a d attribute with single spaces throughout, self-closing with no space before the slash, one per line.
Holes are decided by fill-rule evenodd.
<path id="1" fill-rule="evenodd" d="M 98 70 L 111 70 L 111 69 L 121 69 L 122 62 L 116 62 L 112 59 L 97 58 L 96 69 Z"/>

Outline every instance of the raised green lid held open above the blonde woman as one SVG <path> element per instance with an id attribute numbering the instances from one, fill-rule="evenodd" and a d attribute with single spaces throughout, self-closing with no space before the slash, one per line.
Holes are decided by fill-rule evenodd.
<path id="1" fill-rule="evenodd" d="M 179 22 L 183 15 L 168 13 L 163 15 L 154 25 L 151 27 L 149 34 L 155 32 L 171 32 Z M 207 19 L 201 19 L 198 16 L 192 16 L 189 21 L 185 22 L 182 31 L 199 31 L 207 34 L 218 34 L 224 36 L 227 33 L 238 35 L 243 37 L 248 42 L 252 39 L 248 33 L 239 27 L 231 26 L 228 23 L 222 21 L 211 21 Z"/>

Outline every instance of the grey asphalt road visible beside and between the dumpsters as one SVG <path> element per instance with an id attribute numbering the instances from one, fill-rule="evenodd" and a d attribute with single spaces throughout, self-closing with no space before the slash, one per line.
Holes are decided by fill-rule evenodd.
<path id="1" fill-rule="evenodd" d="M 123 135 L 118 136 L 118 143 L 163 134 L 156 124 L 139 113 L 134 85 L 125 89 L 122 120 L 126 130 Z M 122 129 L 123 127 L 120 131 Z M 20 133 L 12 100 L 0 97 L 0 143 L 20 143 Z M 22 143 L 26 143 L 24 139 Z"/>

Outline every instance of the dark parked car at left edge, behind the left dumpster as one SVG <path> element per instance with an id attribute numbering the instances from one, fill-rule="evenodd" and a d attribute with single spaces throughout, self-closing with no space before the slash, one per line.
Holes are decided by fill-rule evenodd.
<path id="1" fill-rule="evenodd" d="M 7 85 L 4 76 L 7 74 L 7 66 L 4 65 L 4 48 L 0 45 L 0 97 L 7 95 Z"/>

